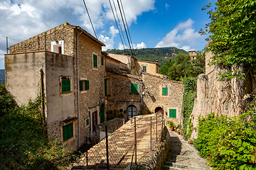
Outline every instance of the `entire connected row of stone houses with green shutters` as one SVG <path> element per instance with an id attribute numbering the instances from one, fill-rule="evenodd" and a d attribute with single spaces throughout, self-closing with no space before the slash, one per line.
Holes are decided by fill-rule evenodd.
<path id="1" fill-rule="evenodd" d="M 18 105 L 43 96 L 48 135 L 73 149 L 115 113 L 129 120 L 149 110 L 182 122 L 181 82 L 163 78 L 157 62 L 107 54 L 102 46 L 66 22 L 12 45 L 5 55 L 6 89 Z"/>

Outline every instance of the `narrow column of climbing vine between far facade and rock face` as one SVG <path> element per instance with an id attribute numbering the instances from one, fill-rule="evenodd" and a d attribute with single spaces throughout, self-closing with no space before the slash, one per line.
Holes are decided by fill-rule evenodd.
<path id="1" fill-rule="evenodd" d="M 193 104 L 196 98 L 196 80 L 191 77 L 186 78 L 183 81 L 184 84 L 184 92 L 183 92 L 183 107 L 182 107 L 182 115 L 183 115 L 183 135 L 186 137 L 191 136 L 191 127 L 193 127 L 190 119 L 190 115 L 193 111 Z M 187 132 L 186 127 L 189 125 L 189 130 Z"/>

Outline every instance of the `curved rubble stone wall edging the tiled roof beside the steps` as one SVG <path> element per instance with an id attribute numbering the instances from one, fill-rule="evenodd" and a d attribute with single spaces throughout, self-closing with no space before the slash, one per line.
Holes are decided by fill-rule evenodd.
<path id="1" fill-rule="evenodd" d="M 168 129 L 164 126 L 161 133 L 161 139 L 156 142 L 152 149 L 145 152 L 142 157 L 139 158 L 137 164 L 140 169 L 161 169 L 171 145 L 171 137 Z M 135 169 L 135 168 L 134 168 Z"/>

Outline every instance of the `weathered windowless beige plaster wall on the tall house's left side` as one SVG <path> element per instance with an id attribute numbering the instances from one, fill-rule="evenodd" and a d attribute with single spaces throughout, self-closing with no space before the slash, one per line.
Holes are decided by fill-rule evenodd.
<path id="1" fill-rule="evenodd" d="M 41 72 L 46 72 L 46 52 L 4 55 L 6 89 L 19 106 L 35 99 L 40 92 Z M 44 83 L 46 79 L 44 77 Z"/>

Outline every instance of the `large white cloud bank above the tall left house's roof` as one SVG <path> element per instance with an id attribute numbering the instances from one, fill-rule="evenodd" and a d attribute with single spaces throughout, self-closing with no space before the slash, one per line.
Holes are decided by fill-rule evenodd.
<path id="1" fill-rule="evenodd" d="M 109 1 L 85 0 L 85 2 L 96 33 L 97 30 L 106 30 L 105 27 L 110 28 L 114 17 Z M 115 3 L 117 6 L 117 1 Z M 129 25 L 136 23 L 137 16 L 154 9 L 154 3 L 155 0 L 122 0 L 127 23 Z M 4 58 L 6 51 L 6 36 L 9 37 L 9 46 L 14 45 L 65 21 L 82 26 L 95 35 L 82 0 L 1 0 L 0 59 Z M 101 32 L 99 38 L 106 44 L 106 48 L 113 48 L 113 38 L 117 33 L 118 30 L 111 27 L 108 32 Z M 1 61 L 0 69 L 3 69 L 4 62 Z"/>

